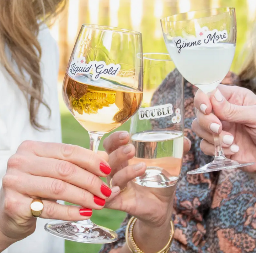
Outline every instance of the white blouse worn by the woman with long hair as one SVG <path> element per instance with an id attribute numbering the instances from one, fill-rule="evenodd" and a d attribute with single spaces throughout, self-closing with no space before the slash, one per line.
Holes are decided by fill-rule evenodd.
<path id="1" fill-rule="evenodd" d="M 50 130 L 37 131 L 31 126 L 25 96 L 6 71 L 0 68 L 0 186 L 9 157 L 16 152 L 23 141 L 62 141 L 57 86 L 58 46 L 46 26 L 41 28 L 38 40 L 42 47 L 43 97 L 52 110 L 49 118 L 47 109 L 41 105 L 38 121 Z M 37 219 L 36 231 L 24 240 L 11 245 L 4 253 L 64 253 L 64 240 L 44 231 L 47 221 Z"/>

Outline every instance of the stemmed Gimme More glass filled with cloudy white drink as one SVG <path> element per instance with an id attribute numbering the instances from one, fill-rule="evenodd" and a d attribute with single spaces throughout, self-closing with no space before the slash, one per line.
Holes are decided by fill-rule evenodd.
<path id="1" fill-rule="evenodd" d="M 217 88 L 235 54 L 235 9 L 224 7 L 180 13 L 163 18 L 161 25 L 167 50 L 182 76 L 204 93 Z M 219 134 L 214 134 L 214 144 L 214 160 L 188 174 L 254 164 L 227 159 Z"/>

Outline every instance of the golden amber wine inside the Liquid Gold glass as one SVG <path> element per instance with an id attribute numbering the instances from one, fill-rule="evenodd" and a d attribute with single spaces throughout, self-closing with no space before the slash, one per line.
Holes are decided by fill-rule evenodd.
<path id="1" fill-rule="evenodd" d="M 108 133 L 139 109 L 142 92 L 107 79 L 94 82 L 65 75 L 63 98 L 75 119 L 90 132 Z"/>

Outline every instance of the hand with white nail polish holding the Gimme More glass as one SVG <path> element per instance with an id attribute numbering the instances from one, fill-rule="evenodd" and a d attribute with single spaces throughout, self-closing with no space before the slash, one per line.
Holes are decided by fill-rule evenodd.
<path id="1" fill-rule="evenodd" d="M 209 97 L 198 90 L 194 105 L 197 118 L 192 123 L 192 129 L 203 138 L 200 147 L 205 154 L 214 155 L 213 133 L 219 133 L 228 158 L 245 162 L 256 160 L 254 93 L 237 86 L 219 85 Z M 244 167 L 243 170 L 256 172 L 256 165 Z"/>

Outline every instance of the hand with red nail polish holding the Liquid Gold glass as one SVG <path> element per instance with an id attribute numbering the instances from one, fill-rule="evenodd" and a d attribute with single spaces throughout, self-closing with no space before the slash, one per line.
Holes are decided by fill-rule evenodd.
<path id="1" fill-rule="evenodd" d="M 111 168 L 108 155 L 100 154 L 68 144 L 23 142 L 2 180 L 0 241 L 10 244 L 34 232 L 30 204 L 35 198 L 44 204 L 41 218 L 85 220 L 92 209 L 102 209 L 111 189 L 98 176 L 108 176 Z M 82 207 L 61 205 L 58 199 Z"/>

